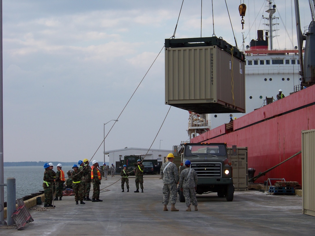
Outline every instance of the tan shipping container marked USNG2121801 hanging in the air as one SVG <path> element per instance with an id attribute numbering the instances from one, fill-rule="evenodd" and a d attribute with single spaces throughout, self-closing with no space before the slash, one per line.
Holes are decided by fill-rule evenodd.
<path id="1" fill-rule="evenodd" d="M 165 48 L 165 104 L 198 114 L 245 112 L 245 63 L 218 46 Z"/>

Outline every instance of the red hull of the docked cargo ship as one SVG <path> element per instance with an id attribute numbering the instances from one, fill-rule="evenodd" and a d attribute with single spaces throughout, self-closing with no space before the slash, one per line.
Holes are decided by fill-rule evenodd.
<path id="1" fill-rule="evenodd" d="M 227 133 L 225 125 L 221 125 L 191 142 L 223 142 L 248 147 L 248 168 L 255 168 L 256 176 L 301 151 L 301 131 L 310 129 L 315 129 L 315 85 L 234 120 L 232 132 Z M 255 183 L 262 183 L 267 178 L 285 178 L 301 184 L 301 154 Z"/>

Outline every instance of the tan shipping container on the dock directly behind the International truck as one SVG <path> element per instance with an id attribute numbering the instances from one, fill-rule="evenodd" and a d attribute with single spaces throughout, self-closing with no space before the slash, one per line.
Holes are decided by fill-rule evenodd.
<path id="1" fill-rule="evenodd" d="M 248 190 L 247 178 L 247 147 L 240 147 L 236 149 L 237 155 L 232 156 L 232 148 L 227 148 L 228 153 L 231 154 L 230 160 L 233 168 L 233 184 L 235 191 Z"/>

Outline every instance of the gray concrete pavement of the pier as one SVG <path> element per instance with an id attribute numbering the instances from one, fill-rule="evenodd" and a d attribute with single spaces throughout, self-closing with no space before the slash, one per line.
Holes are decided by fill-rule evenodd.
<path id="1" fill-rule="evenodd" d="M 227 202 L 215 193 L 197 195 L 198 211 L 187 212 L 177 199 L 179 212 L 163 211 L 162 180 L 144 177 L 144 193 L 121 192 L 119 175 L 102 180 L 103 202 L 75 205 L 74 196 L 55 201 L 55 209 L 31 210 L 34 222 L 23 230 L 0 229 L 0 235 L 313 235 L 315 217 L 302 214 L 302 197 L 235 192 Z M 113 184 L 114 183 L 114 184 Z M 113 185 L 111 185 L 113 184 Z M 111 186 L 109 186 L 111 185 Z M 109 186 L 109 187 L 108 187 Z M 108 191 L 107 191 L 108 190 Z M 126 189 L 125 189 L 126 191 Z M 92 194 L 90 194 L 91 196 Z M 43 205 L 41 205 L 43 206 Z M 170 205 L 169 205 L 170 210 Z"/>

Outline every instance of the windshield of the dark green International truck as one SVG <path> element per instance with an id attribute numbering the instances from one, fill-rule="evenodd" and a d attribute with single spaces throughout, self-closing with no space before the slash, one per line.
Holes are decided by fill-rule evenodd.
<path id="1" fill-rule="evenodd" d="M 186 156 L 199 156 L 201 154 L 225 156 L 226 155 L 225 145 L 224 144 L 186 145 L 185 148 Z"/>

